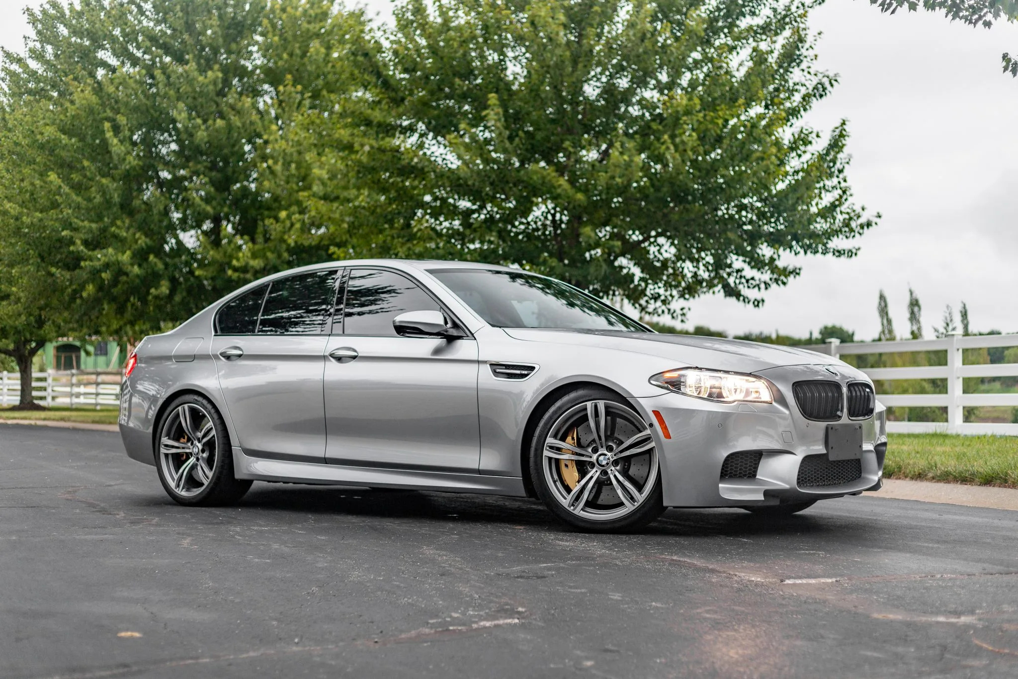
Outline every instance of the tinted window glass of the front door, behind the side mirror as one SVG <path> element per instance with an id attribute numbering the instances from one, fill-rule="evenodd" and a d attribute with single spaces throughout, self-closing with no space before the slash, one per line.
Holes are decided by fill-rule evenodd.
<path id="1" fill-rule="evenodd" d="M 347 335 L 398 337 L 392 320 L 406 312 L 441 312 L 416 283 L 391 271 L 352 269 L 346 283 L 343 332 Z"/>

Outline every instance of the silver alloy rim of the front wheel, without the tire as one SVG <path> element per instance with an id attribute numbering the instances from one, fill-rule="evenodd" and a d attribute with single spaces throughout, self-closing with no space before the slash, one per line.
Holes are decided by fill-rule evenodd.
<path id="1" fill-rule="evenodd" d="M 614 401 L 586 401 L 567 410 L 552 427 L 542 461 L 559 504 L 595 521 L 634 512 L 658 480 L 649 428 Z"/>

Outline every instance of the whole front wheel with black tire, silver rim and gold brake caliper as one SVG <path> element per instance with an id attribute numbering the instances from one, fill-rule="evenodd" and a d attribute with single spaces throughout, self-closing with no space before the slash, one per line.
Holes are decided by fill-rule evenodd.
<path id="1" fill-rule="evenodd" d="M 658 518 L 658 448 L 643 418 L 607 390 L 563 396 L 541 418 L 530 478 L 558 518 L 589 531 L 623 531 Z"/>

